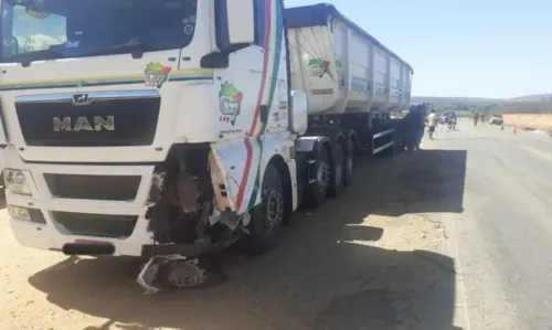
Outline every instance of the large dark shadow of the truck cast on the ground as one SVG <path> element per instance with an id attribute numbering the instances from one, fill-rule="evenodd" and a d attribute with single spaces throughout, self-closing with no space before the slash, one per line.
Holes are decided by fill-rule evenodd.
<path id="1" fill-rule="evenodd" d="M 362 161 L 343 195 L 298 212 L 277 249 L 257 258 L 230 254 L 229 280 L 208 289 L 144 295 L 135 281 L 139 262 L 115 258 L 71 257 L 29 281 L 51 304 L 106 319 L 87 330 L 458 329 L 454 259 L 372 246 L 393 233 L 359 224 L 370 214 L 459 212 L 459 181 L 432 173 L 463 159 L 434 150 Z M 421 161 L 425 168 L 415 166 Z"/>

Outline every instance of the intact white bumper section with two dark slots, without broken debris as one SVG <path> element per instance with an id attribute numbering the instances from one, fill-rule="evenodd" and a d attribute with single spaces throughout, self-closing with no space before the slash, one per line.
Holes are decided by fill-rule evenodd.
<path id="1" fill-rule="evenodd" d="M 26 194 L 6 189 L 8 209 L 18 211 L 9 219 L 21 245 L 63 251 L 66 244 L 100 242 L 115 247 L 114 256 L 139 257 L 151 244 L 152 164 L 24 162 L 11 146 L 2 156 L 4 169 L 22 172 L 28 187 Z"/>

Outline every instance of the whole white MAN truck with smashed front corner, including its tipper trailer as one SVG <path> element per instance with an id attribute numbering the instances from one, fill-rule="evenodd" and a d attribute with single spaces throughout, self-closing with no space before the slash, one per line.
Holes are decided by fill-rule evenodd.
<path id="1" fill-rule="evenodd" d="M 413 71 L 332 6 L 282 0 L 1 0 L 8 213 L 24 246 L 149 262 L 206 281 L 234 243 L 392 152 Z"/>

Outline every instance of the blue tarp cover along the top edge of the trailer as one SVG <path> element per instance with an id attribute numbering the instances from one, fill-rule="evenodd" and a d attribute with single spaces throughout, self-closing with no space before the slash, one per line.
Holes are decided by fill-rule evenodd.
<path id="1" fill-rule="evenodd" d="M 370 33 L 362 30 L 362 28 L 357 25 L 353 21 L 349 20 L 347 17 L 340 13 L 333 4 L 318 3 L 311 6 L 291 7 L 286 8 L 284 11 L 284 17 L 286 18 L 286 28 L 289 29 L 327 25 L 328 15 L 330 14 L 338 18 L 340 21 L 348 24 L 351 29 L 355 30 L 364 38 L 370 40 L 373 44 L 388 52 L 392 57 L 399 60 L 399 62 L 406 65 L 414 74 L 414 70 L 412 70 L 412 66 L 408 63 L 402 60 L 397 54 L 393 53 L 390 49 L 384 46 Z"/>

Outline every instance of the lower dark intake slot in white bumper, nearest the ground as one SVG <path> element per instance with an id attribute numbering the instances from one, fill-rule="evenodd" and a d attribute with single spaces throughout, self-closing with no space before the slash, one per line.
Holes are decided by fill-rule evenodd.
<path id="1" fill-rule="evenodd" d="M 95 237 L 126 238 L 132 234 L 138 216 L 52 212 L 54 221 L 71 234 Z"/>

